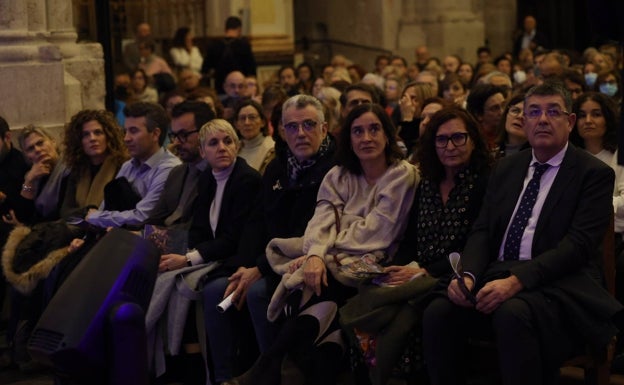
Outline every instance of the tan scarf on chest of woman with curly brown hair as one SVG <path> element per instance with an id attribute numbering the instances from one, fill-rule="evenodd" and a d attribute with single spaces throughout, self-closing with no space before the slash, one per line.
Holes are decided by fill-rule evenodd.
<path id="1" fill-rule="evenodd" d="M 102 167 L 100 167 L 93 179 L 91 178 L 89 168 L 83 168 L 76 184 L 76 203 L 78 207 L 99 206 L 104 200 L 104 186 L 115 178 L 118 170 L 119 166 L 112 156 L 106 157 Z"/>

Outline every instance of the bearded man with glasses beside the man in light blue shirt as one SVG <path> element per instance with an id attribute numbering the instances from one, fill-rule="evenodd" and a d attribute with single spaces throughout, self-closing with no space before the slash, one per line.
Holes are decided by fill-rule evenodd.
<path id="1" fill-rule="evenodd" d="M 207 163 L 199 154 L 199 129 L 215 118 L 203 102 L 185 101 L 171 111 L 169 139 L 172 151 L 182 161 L 174 167 L 147 223 L 188 229 L 197 197 L 197 181 Z"/>

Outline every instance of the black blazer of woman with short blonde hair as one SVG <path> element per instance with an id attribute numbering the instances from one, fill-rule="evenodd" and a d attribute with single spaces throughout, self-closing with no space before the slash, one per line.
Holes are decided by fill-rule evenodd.
<path id="1" fill-rule="evenodd" d="M 199 177 L 198 195 L 189 231 L 189 246 L 197 249 L 206 262 L 235 255 L 243 228 L 262 188 L 262 177 L 238 157 L 223 190 L 223 201 L 215 235 L 210 227 L 210 206 L 217 182 L 212 170 Z"/>

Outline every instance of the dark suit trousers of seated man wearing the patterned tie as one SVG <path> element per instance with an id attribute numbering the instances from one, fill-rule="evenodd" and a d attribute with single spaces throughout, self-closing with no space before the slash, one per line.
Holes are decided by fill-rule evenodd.
<path id="1" fill-rule="evenodd" d="M 424 356 L 432 385 L 465 384 L 468 337 L 493 337 L 505 385 L 550 384 L 559 367 L 544 367 L 539 333 L 529 305 L 511 298 L 491 315 L 434 299 L 423 316 Z"/>

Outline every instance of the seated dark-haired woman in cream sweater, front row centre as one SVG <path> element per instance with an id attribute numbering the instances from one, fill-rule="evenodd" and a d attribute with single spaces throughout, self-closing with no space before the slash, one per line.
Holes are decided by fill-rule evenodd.
<path id="1" fill-rule="evenodd" d="M 308 126 L 312 124 L 306 120 L 284 121 L 286 131 L 302 138 Z M 282 358 L 288 355 L 307 384 L 334 384 L 345 350 L 337 311 L 355 294 L 352 286 L 357 284 L 338 265 L 368 253 L 381 259 L 396 251 L 418 183 L 416 170 L 402 160 L 395 128 L 379 105 L 355 107 L 340 135 L 338 166 L 321 183 L 304 236 L 274 239 L 267 247 L 292 246 L 282 256 L 267 256 L 282 275 L 269 319 L 283 310 L 291 316 L 273 345 L 235 383 L 279 383 Z M 288 288 L 295 287 L 301 290 L 288 296 Z"/>

